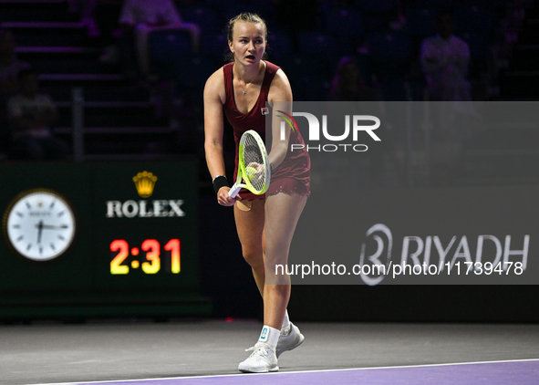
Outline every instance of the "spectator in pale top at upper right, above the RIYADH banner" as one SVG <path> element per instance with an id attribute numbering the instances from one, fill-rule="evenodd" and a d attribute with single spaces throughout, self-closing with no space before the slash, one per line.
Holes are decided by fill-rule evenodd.
<path id="1" fill-rule="evenodd" d="M 438 16 L 439 35 L 421 43 L 420 60 L 429 85 L 430 100 L 471 100 L 466 80 L 470 48 L 453 35 L 451 12 Z"/>

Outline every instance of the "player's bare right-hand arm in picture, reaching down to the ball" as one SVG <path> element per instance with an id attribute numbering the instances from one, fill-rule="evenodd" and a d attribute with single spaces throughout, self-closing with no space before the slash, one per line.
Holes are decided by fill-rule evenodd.
<path id="1" fill-rule="evenodd" d="M 268 93 L 268 102 L 272 107 L 272 148 L 268 154 L 268 159 L 272 165 L 272 169 L 281 164 L 285 160 L 286 151 L 288 150 L 288 140 L 290 139 L 290 126 L 285 124 L 285 136 L 281 136 L 281 121 L 286 116 L 292 115 L 292 88 L 290 82 L 286 78 L 285 72 L 279 69 L 272 81 L 270 91 Z M 285 114 L 284 114 L 285 113 Z"/>

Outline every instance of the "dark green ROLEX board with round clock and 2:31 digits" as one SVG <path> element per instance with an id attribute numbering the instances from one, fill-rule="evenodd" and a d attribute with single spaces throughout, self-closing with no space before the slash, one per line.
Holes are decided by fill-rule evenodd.
<path id="1" fill-rule="evenodd" d="M 194 161 L 0 165 L 0 318 L 208 314 Z"/>

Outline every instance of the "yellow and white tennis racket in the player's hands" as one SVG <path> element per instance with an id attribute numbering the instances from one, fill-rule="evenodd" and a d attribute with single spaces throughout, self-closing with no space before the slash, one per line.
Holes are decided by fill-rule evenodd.
<path id="1" fill-rule="evenodd" d="M 238 176 L 228 194 L 235 198 L 242 188 L 246 188 L 261 195 L 267 191 L 270 177 L 271 168 L 264 141 L 256 131 L 245 131 L 240 139 Z"/>

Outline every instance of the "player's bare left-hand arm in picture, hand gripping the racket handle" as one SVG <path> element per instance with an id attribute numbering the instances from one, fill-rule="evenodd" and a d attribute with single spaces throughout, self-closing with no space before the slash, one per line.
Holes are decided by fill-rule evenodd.
<path id="1" fill-rule="evenodd" d="M 226 175 L 223 158 L 223 102 L 225 99 L 223 69 L 208 78 L 204 87 L 204 151 L 212 180 Z M 230 187 L 217 192 L 217 201 L 232 206 L 235 200 L 228 195 Z"/>

